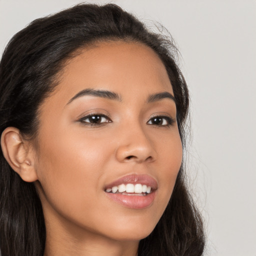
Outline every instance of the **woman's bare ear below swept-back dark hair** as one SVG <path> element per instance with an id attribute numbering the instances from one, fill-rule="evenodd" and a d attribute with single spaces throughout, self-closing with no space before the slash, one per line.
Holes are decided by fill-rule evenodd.
<path id="1" fill-rule="evenodd" d="M 32 145 L 24 140 L 15 127 L 7 127 L 1 134 L 3 155 L 11 168 L 27 182 L 37 180 L 34 168 L 34 153 Z"/>

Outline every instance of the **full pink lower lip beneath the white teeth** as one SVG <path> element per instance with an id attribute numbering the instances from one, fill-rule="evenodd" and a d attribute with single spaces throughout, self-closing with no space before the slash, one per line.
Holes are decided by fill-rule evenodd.
<path id="1" fill-rule="evenodd" d="M 113 201 L 133 209 L 142 209 L 150 206 L 155 197 L 155 190 L 143 196 L 124 195 L 119 193 L 108 193 L 108 192 L 105 192 L 105 193 Z"/>

